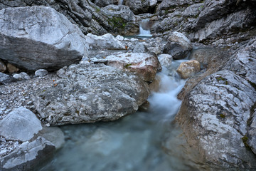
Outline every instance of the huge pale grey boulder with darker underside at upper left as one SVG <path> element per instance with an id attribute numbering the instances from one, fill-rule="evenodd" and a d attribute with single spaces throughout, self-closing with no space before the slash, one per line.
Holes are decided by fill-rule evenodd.
<path id="1" fill-rule="evenodd" d="M 87 56 L 82 31 L 44 6 L 0 11 L 0 58 L 31 71 L 57 70 Z"/>

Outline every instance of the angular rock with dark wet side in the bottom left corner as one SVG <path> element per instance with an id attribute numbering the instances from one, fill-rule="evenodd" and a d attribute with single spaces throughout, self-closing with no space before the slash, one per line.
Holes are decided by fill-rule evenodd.
<path id="1" fill-rule="evenodd" d="M 37 165 L 48 160 L 54 151 L 53 143 L 38 137 L 32 142 L 23 142 L 9 155 L 1 157 L 0 168 L 3 171 L 33 170 Z"/>

